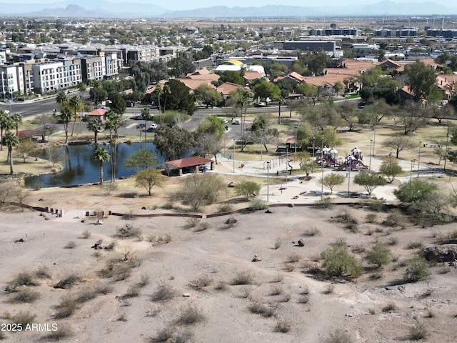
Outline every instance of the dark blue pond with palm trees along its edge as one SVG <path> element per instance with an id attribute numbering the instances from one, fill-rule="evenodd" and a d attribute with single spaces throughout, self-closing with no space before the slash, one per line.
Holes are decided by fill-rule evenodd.
<path id="1" fill-rule="evenodd" d="M 103 145 L 109 152 L 110 146 Z M 130 177 L 136 174 L 135 169 L 128 169 L 124 166 L 124 161 L 131 156 L 135 151 L 140 149 L 139 143 L 120 143 L 113 150 L 113 161 L 104 163 L 103 173 L 104 181 L 111 180 L 111 166 L 114 165 L 116 179 L 121 177 Z M 144 144 L 142 144 L 144 149 Z M 61 156 L 61 165 L 63 170 L 53 174 L 37 175 L 34 177 L 26 177 L 25 184 L 28 188 L 46 188 L 46 187 L 69 187 L 77 184 L 93 184 L 100 180 L 100 164 L 94 161 L 94 145 L 69 145 L 59 146 L 58 154 Z M 148 149 L 156 154 L 156 147 L 152 143 L 148 143 Z M 163 164 L 164 159 L 161 155 L 156 154 L 156 159 L 159 161 L 158 166 Z"/>

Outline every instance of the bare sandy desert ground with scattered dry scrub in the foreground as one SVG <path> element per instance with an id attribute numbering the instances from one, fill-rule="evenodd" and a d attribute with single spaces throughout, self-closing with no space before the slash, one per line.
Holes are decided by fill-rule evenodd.
<path id="1" fill-rule="evenodd" d="M 401 226 L 386 227 L 385 212 L 296 206 L 201 219 L 190 228 L 189 219 L 176 217 L 110 216 L 94 225 L 95 217 L 79 217 L 87 204 L 102 207 L 94 190 L 39 192 L 29 202 L 68 210 L 56 217 L 2 209 L 0 284 L 9 292 L 1 294 L 0 323 L 12 329 L 8 323 L 29 312 L 35 316 L 29 322 L 47 327 L 2 332 L 5 342 L 384 343 L 412 342 L 411 330 L 418 329 L 427 342 L 457 340 L 457 269 L 438 264 L 426 279 L 403 281 L 406 261 L 455 224 L 422 228 L 405 218 Z M 129 213 L 144 199 L 106 202 Z M 357 219 L 356 230 L 334 220 L 346 211 Z M 226 224 L 229 218 L 236 223 Z M 141 240 L 114 237 L 126 224 L 141 229 Z M 99 239 L 103 247 L 116 242 L 115 248 L 91 249 Z M 321 252 L 338 241 L 363 261 L 363 275 L 352 281 L 314 277 Z M 375 242 L 386 242 L 393 254 L 380 269 L 366 262 Z M 260 261 L 251 262 L 255 255 Z M 19 276 L 35 285 L 14 288 Z M 54 288 L 68 278 L 66 289 Z M 26 295 L 31 302 L 23 302 Z"/>

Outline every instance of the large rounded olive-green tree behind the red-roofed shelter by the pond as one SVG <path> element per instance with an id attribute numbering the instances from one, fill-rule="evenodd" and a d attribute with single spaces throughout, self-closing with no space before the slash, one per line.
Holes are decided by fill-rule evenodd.
<path id="1" fill-rule="evenodd" d="M 156 151 L 165 161 L 179 159 L 189 152 L 195 144 L 194 136 L 179 126 L 159 126 L 154 136 Z"/>

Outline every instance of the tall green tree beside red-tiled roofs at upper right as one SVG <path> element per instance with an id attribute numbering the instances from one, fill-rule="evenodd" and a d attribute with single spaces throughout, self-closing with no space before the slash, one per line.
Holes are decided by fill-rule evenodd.
<path id="1" fill-rule="evenodd" d="M 436 70 L 421 61 L 405 66 L 406 85 L 411 89 L 414 100 L 420 102 L 436 99 Z"/>

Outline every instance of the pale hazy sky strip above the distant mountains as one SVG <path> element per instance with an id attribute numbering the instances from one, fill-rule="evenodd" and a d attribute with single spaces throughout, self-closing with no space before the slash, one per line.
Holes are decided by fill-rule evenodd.
<path id="1" fill-rule="evenodd" d="M 396 4 L 408 4 L 408 3 L 413 3 L 413 4 L 426 4 L 426 3 L 435 3 L 439 4 L 441 6 L 446 6 L 446 7 L 456 7 L 457 5 L 454 5 L 451 3 L 451 1 L 448 0 L 356 0 L 356 1 L 351 1 L 348 6 L 354 6 L 354 5 L 361 5 L 361 6 L 367 6 L 370 4 L 378 4 L 380 2 L 387 1 L 387 2 L 393 2 Z M 123 3 L 125 4 L 125 0 L 93 0 L 91 1 L 91 4 L 96 6 L 98 3 L 103 3 L 103 2 L 109 2 L 109 3 Z M 213 6 L 228 6 L 228 7 L 260 7 L 260 6 L 266 6 L 266 5 L 278 5 L 278 6 L 301 6 L 301 7 L 323 7 L 323 6 L 344 6 L 344 3 L 341 1 L 337 0 L 323 0 L 323 1 L 303 1 L 303 0 L 282 0 L 281 2 L 278 2 L 277 0 L 263 0 L 259 2 L 258 0 L 231 0 L 231 1 L 226 1 L 224 3 L 219 3 L 211 0 L 194 0 L 194 1 L 184 1 L 184 0 L 172 0 L 172 1 L 166 1 L 165 3 L 161 1 L 156 1 L 156 0 L 131 0 L 129 2 L 136 3 L 136 4 L 151 4 L 155 6 L 162 7 L 164 9 L 169 9 L 171 11 L 181 11 L 181 10 L 189 10 L 189 9 L 200 9 L 200 8 L 207 8 L 207 7 L 213 7 Z M 19 0 L 17 1 L 16 4 L 49 4 L 49 5 L 54 5 L 52 7 L 55 7 L 55 5 L 59 5 L 62 3 L 68 3 L 68 4 L 75 4 L 78 6 L 84 6 L 84 4 L 81 4 L 81 1 L 79 0 Z M 4 4 L 4 6 L 8 6 L 8 4 L 11 4 L 11 1 L 5 1 L 5 0 L 0 0 L 0 4 Z"/>

